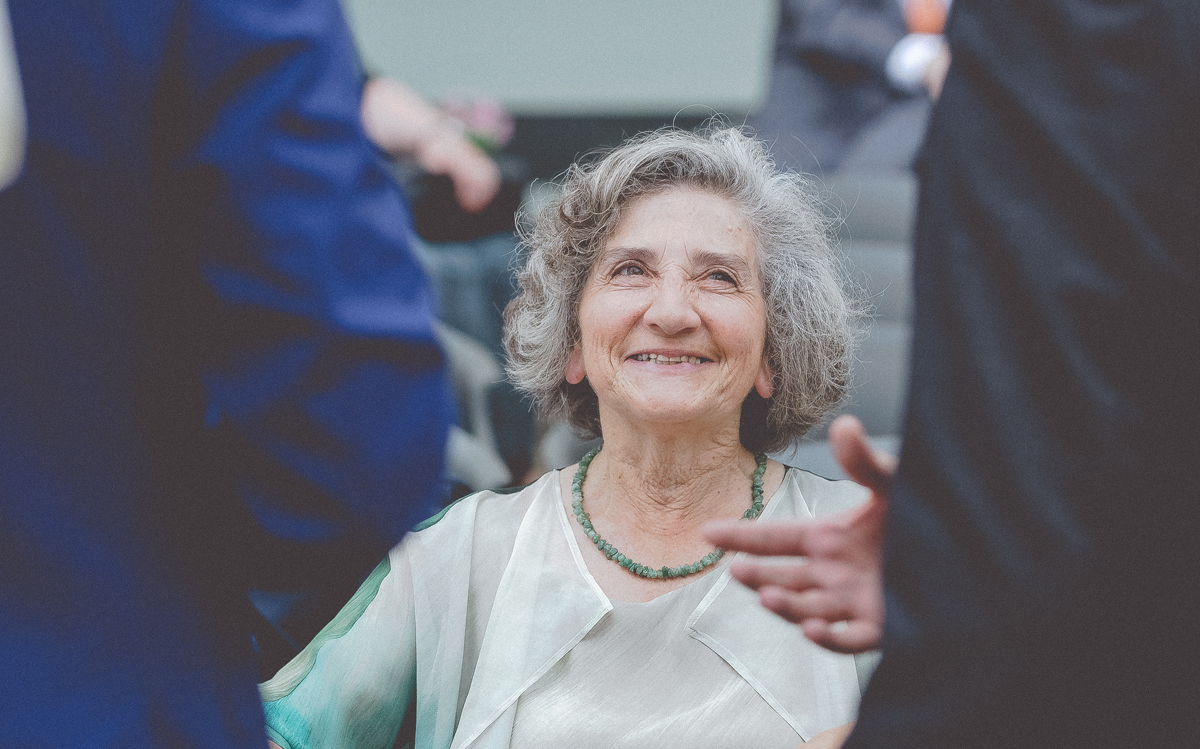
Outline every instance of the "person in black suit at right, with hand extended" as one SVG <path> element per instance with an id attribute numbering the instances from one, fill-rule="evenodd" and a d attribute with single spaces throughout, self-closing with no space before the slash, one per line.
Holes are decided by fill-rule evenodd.
<path id="1" fill-rule="evenodd" d="M 949 40 L 899 473 L 835 424 L 869 510 L 709 538 L 809 556 L 736 573 L 827 646 L 882 627 L 847 747 L 1192 747 L 1200 5 L 959 0 Z"/>

